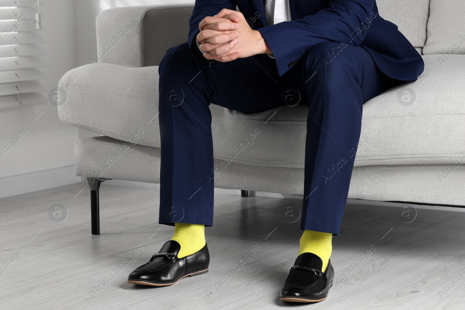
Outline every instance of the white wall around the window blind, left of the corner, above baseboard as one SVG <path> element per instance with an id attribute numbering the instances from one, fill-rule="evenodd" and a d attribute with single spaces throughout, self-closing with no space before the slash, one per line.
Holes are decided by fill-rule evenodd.
<path id="1" fill-rule="evenodd" d="M 75 67 L 74 4 L 69 0 L 47 0 L 41 10 L 46 17 L 42 20 L 46 31 L 41 34 L 46 40 L 42 47 L 49 66 L 44 82 L 49 91 L 58 86 L 66 71 Z M 27 134 L 0 158 L 0 178 L 73 165 L 73 144 L 78 139 L 78 130 L 60 121 L 56 106 L 46 104 L 0 112 L 0 145 L 7 145 L 21 128 L 26 128 Z M 18 186 L 28 186 L 23 183 Z"/>

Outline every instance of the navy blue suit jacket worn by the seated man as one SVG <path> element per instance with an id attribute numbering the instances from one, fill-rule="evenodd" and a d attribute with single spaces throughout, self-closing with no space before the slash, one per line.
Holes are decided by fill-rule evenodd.
<path id="1" fill-rule="evenodd" d="M 263 0 L 196 0 L 188 43 L 200 66 L 212 62 L 200 57 L 195 43 L 199 22 L 223 8 L 236 10 L 236 5 L 270 46 L 279 76 L 312 46 L 325 41 L 340 42 L 337 52 L 347 45 L 362 46 L 379 69 L 394 79 L 416 80 L 424 70 L 420 54 L 395 24 L 379 16 L 375 0 L 289 0 L 292 20 L 270 26 Z"/>

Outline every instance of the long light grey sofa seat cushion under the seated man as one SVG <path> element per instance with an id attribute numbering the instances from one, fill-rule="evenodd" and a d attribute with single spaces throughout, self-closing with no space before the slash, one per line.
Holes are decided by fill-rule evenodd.
<path id="1" fill-rule="evenodd" d="M 446 63 L 438 61 L 440 55 L 423 58 L 425 72 L 417 81 L 365 103 L 355 166 L 454 164 L 465 158 L 465 55 Z M 75 68 L 59 83 L 67 95 L 58 108 L 60 119 L 114 139 L 160 147 L 158 79 L 157 66 Z M 307 106 L 245 114 L 211 104 L 210 110 L 215 158 L 304 167 Z"/>

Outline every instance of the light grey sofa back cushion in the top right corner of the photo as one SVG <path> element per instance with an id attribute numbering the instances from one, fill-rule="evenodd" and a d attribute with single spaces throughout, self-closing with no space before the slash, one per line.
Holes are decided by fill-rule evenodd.
<path id="1" fill-rule="evenodd" d="M 423 53 L 465 54 L 465 1 L 431 0 L 430 10 Z"/>

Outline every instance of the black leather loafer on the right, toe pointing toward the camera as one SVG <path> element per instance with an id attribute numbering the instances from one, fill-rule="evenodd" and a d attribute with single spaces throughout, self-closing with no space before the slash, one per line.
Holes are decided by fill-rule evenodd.
<path id="1" fill-rule="evenodd" d="M 323 262 L 313 253 L 302 253 L 295 260 L 281 290 L 281 300 L 296 303 L 314 303 L 325 300 L 332 287 L 334 269 L 331 260 L 325 272 Z"/>

